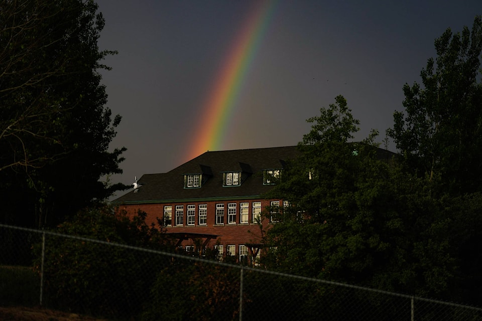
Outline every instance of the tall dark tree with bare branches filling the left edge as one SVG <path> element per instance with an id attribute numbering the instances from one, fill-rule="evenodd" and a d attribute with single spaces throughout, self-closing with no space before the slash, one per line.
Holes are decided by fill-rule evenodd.
<path id="1" fill-rule="evenodd" d="M 54 225 L 125 188 L 99 182 L 122 173 L 126 149 L 108 151 L 121 116 L 104 107 L 98 70 L 115 52 L 97 47 L 97 9 L 92 0 L 13 0 L 0 10 L 0 177 L 12 201 L 4 220 Z"/>

